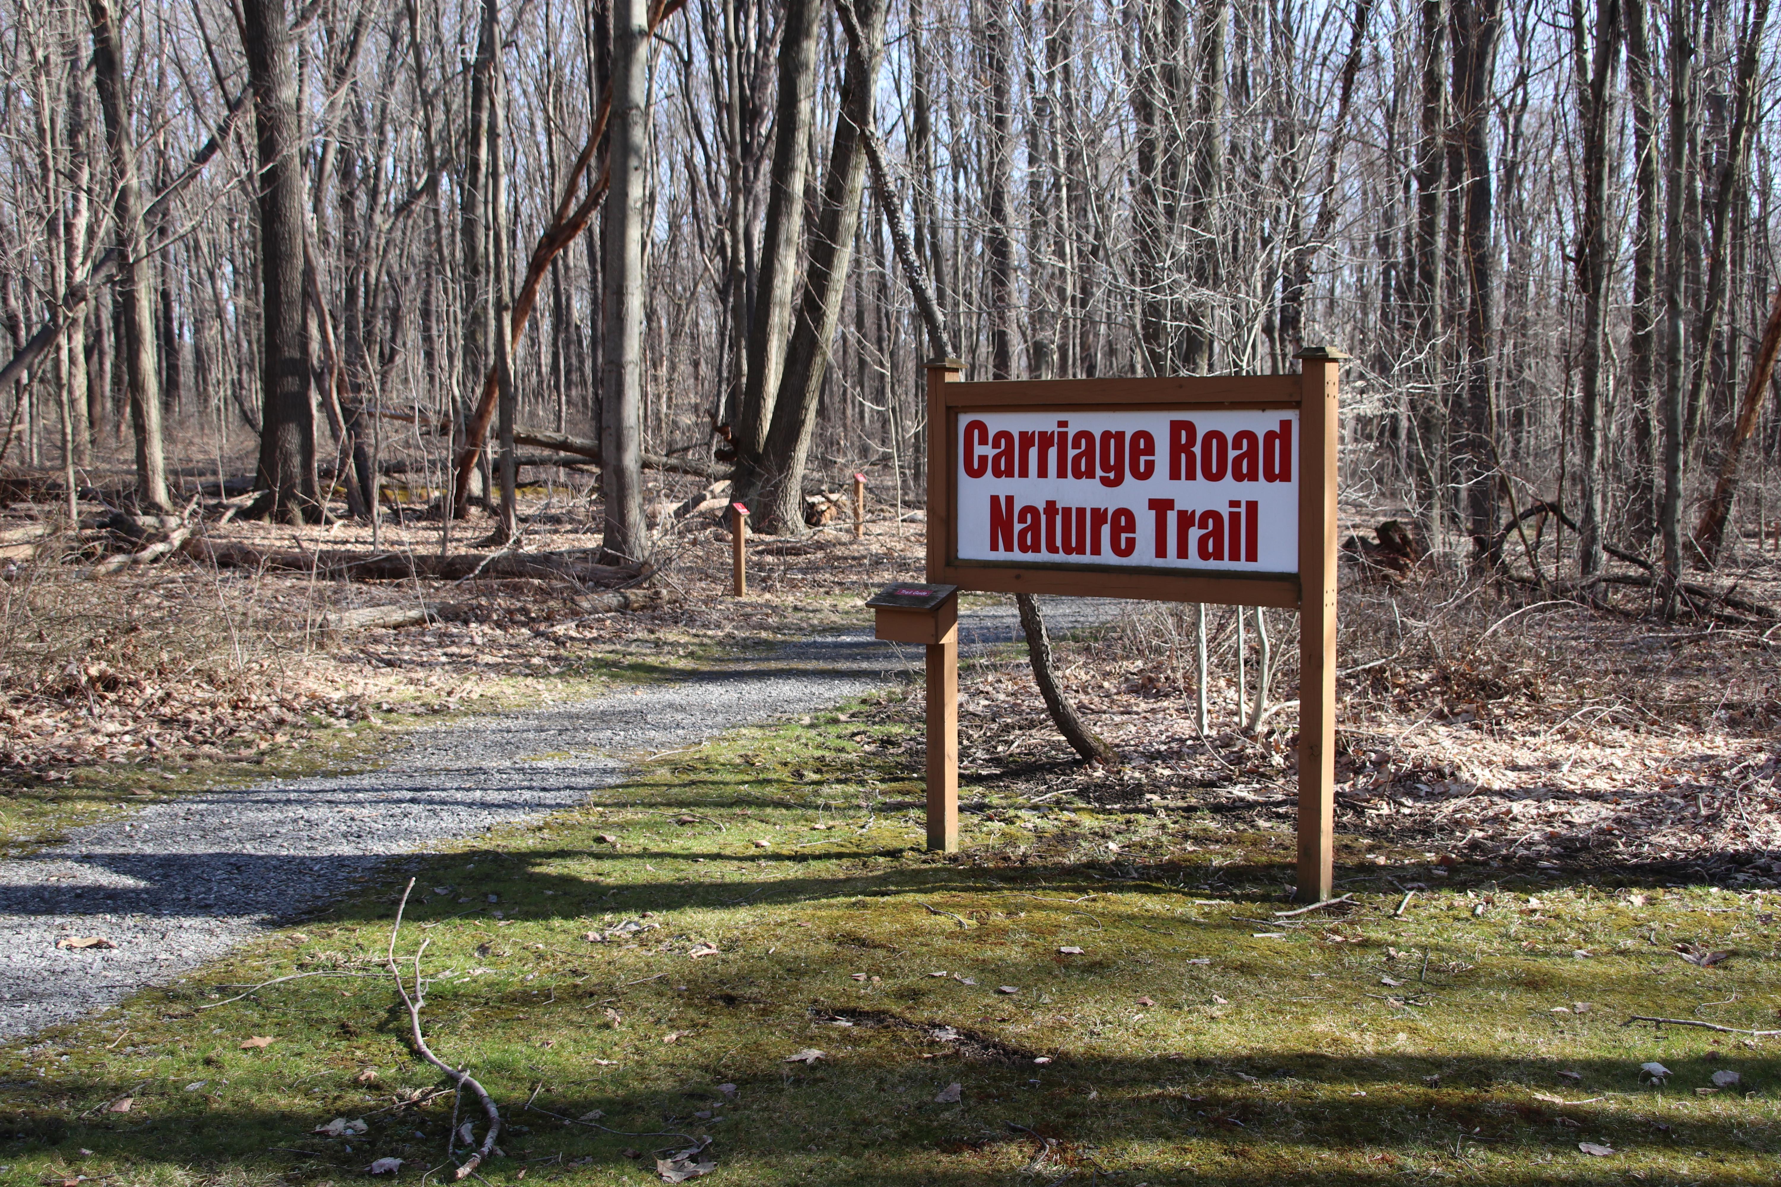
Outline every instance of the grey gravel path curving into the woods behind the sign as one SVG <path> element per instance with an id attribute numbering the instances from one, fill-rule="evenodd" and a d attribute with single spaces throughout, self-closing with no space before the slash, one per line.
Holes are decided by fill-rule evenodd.
<path id="1" fill-rule="evenodd" d="M 1045 609 L 1063 632 L 1122 605 Z M 965 614 L 960 634 L 965 651 L 1015 639 L 1013 605 Z M 671 683 L 422 730 L 378 771 L 182 795 L 73 829 L 64 845 L 0 861 L 0 1039 L 166 982 L 394 854 L 572 808 L 616 783 L 630 755 L 823 708 L 919 662 L 919 648 L 866 630 L 809 639 Z M 57 949 L 68 936 L 116 947 Z"/>

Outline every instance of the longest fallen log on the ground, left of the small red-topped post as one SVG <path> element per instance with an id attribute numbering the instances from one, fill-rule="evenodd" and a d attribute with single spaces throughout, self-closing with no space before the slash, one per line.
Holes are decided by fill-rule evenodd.
<path id="1" fill-rule="evenodd" d="M 497 552 L 436 557 L 406 552 L 344 552 L 324 548 L 253 548 L 249 545 L 189 539 L 183 548 L 194 561 L 232 569 L 283 569 L 315 573 L 331 580 L 463 580 L 467 577 L 534 577 L 573 580 L 584 585 L 616 585 L 641 577 L 636 566 L 597 564 L 588 552 Z"/>

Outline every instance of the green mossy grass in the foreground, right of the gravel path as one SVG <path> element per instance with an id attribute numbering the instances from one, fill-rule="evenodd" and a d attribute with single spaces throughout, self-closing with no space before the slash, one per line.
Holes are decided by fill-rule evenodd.
<path id="1" fill-rule="evenodd" d="M 1286 833 L 981 785 L 940 858 L 907 730 L 853 705 L 732 731 L 0 1048 L 0 1182 L 322 1183 L 379 1157 L 451 1182 L 452 1098 L 399 1103 L 442 1080 L 381 972 L 410 876 L 427 1036 L 515 1126 L 490 1183 L 655 1180 L 703 1135 L 737 1185 L 1774 1182 L 1776 1041 L 1621 1025 L 1774 1029 L 1765 895 L 1441 877 L 1345 842 L 1355 909 L 1277 918 Z M 1402 918 L 1391 879 L 1428 884 Z M 228 1002 L 292 973 L 328 975 Z M 1701 1094 L 1715 1071 L 1742 1084 Z M 367 1132 L 312 1132 L 333 1118 Z"/>

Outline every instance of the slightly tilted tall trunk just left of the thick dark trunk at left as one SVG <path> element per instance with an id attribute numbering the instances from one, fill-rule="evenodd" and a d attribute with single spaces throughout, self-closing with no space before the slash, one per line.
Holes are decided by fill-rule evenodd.
<path id="1" fill-rule="evenodd" d="M 93 20 L 93 82 L 105 117 L 112 167 L 112 221 L 123 263 L 118 308 L 123 326 L 123 374 L 135 431 L 135 498 L 144 511 L 171 511 L 160 440 L 160 367 L 155 359 L 155 288 L 142 228 L 142 192 L 130 139 L 130 107 L 123 91 L 123 50 L 109 0 L 87 0 Z M 305 370 L 308 374 L 308 370 Z"/>

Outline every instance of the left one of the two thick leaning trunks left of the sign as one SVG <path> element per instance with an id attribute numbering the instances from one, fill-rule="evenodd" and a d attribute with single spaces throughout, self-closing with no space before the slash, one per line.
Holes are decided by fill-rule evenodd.
<path id="1" fill-rule="evenodd" d="M 803 185 L 809 173 L 809 139 L 814 117 L 816 34 L 821 0 L 787 0 L 780 32 L 778 110 L 773 132 L 773 166 L 768 182 L 768 219 L 760 242 L 760 278 L 755 311 L 748 327 L 748 375 L 743 413 L 736 425 L 737 498 L 753 498 L 766 479 L 760 452 L 773 424 L 773 400 L 785 365 L 798 283 L 798 240 L 803 233 Z"/>

